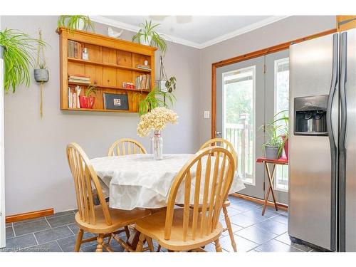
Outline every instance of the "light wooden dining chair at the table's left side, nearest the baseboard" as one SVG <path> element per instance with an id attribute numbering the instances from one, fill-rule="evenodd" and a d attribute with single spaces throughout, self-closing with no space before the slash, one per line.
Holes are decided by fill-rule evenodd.
<path id="1" fill-rule="evenodd" d="M 103 248 L 112 251 L 110 241 L 104 243 L 104 238 L 111 239 L 112 234 L 120 234 L 120 232 L 125 231 L 122 228 L 135 224 L 137 219 L 150 215 L 150 211 L 145 209 L 133 209 L 131 211 L 110 209 L 108 203 L 105 202 L 98 176 L 82 148 L 78 144 L 70 143 L 67 145 L 67 158 L 74 179 L 78 205 L 75 221 L 79 226 L 79 231 L 74 250 L 79 251 L 80 244 L 96 239 L 98 242 L 97 252 L 103 252 Z M 97 197 L 100 202 L 97 206 L 95 206 L 93 200 L 93 189 L 98 194 Z M 97 236 L 83 240 L 84 231 Z M 119 244 L 125 243 L 121 239 L 116 240 Z"/>

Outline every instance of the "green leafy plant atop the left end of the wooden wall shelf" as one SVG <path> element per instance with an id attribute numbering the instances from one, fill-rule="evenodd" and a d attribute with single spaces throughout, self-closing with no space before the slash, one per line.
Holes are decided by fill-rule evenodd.
<path id="1" fill-rule="evenodd" d="M 58 28 L 67 28 L 68 31 L 73 32 L 74 30 L 81 30 L 80 28 L 80 23 L 83 23 L 83 30 L 88 31 L 92 30 L 94 31 L 94 24 L 90 20 L 89 16 L 83 16 L 83 15 L 75 15 L 75 16 L 70 16 L 70 15 L 61 15 L 58 18 L 57 21 L 57 29 Z"/>

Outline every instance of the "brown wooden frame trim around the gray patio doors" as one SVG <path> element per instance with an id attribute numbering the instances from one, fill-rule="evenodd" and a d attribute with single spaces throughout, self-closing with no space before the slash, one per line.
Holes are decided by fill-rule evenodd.
<path id="1" fill-rule="evenodd" d="M 306 36 L 303 38 L 298 38 L 293 41 L 288 41 L 286 43 L 280 43 L 276 46 L 271 46 L 268 48 L 264 48 L 258 51 L 253 51 L 251 53 L 246 53 L 241 56 L 235 56 L 234 58 L 228 58 L 224 61 L 218 61 L 211 64 L 211 138 L 215 138 L 216 131 L 216 68 L 224 67 L 230 64 L 238 63 L 241 61 L 247 61 L 251 58 L 258 58 L 258 56 L 266 56 L 270 53 L 275 53 L 278 51 L 283 51 L 289 48 L 289 46 L 293 43 L 300 43 L 303 41 L 307 41 L 313 38 L 318 38 L 321 36 L 325 36 L 331 33 L 336 33 L 336 28 L 332 28 L 328 31 L 323 31 L 321 33 L 315 33 L 311 36 Z"/>

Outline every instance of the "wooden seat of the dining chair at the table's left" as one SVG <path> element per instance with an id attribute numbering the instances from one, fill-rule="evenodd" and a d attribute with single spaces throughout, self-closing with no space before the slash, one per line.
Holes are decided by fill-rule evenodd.
<path id="1" fill-rule="evenodd" d="M 88 224 L 87 222 L 82 221 L 80 219 L 79 212 L 75 214 L 75 221 L 80 229 L 83 229 L 84 231 L 88 231 L 93 234 L 108 234 L 129 224 L 135 224 L 135 221 L 138 219 L 151 214 L 151 212 L 147 209 L 137 208 L 132 209 L 131 211 L 126 211 L 122 209 L 111 209 L 110 207 L 108 208 L 112 220 L 111 225 L 106 224 L 101 206 L 95 206 L 95 224 Z"/>

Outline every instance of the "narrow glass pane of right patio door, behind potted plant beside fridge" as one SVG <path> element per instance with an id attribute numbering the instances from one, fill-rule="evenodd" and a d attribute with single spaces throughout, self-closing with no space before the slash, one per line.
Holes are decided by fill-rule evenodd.
<path id="1" fill-rule="evenodd" d="M 275 61 L 275 114 L 278 112 L 285 113 L 288 116 L 289 107 L 289 58 L 283 58 Z M 286 112 L 283 112 L 286 110 Z M 281 116 L 282 117 L 282 113 Z M 281 125 L 281 132 L 283 134 L 283 128 L 286 125 L 286 121 L 280 120 L 276 122 Z M 284 154 L 284 152 L 283 152 Z M 286 155 L 283 155 L 285 157 Z M 277 190 L 288 192 L 288 166 L 277 165 L 275 188 Z"/>

